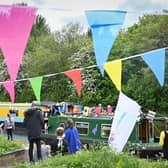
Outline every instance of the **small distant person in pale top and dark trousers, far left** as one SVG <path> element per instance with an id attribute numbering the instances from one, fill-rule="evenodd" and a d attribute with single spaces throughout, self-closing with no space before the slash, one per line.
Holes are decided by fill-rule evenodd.
<path id="1" fill-rule="evenodd" d="M 7 118 L 4 122 L 4 128 L 7 132 L 8 140 L 13 140 L 13 130 L 15 129 L 15 123 L 10 114 L 7 114 Z"/>

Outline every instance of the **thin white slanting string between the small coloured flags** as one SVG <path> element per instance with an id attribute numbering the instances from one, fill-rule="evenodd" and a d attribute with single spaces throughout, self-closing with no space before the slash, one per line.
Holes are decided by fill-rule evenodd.
<path id="1" fill-rule="evenodd" d="M 158 49 L 154 49 L 154 50 L 150 50 L 149 52 L 153 52 L 155 50 L 159 50 L 159 49 L 168 49 L 168 47 L 164 47 L 164 48 L 158 48 Z M 141 55 L 145 54 L 146 52 L 144 53 L 140 53 L 140 54 L 135 54 L 135 55 L 132 55 L 132 56 L 129 56 L 129 57 L 125 57 L 125 58 L 121 58 L 120 60 L 121 61 L 126 61 L 126 60 L 129 60 L 129 59 L 133 59 L 133 58 L 136 58 L 136 57 L 140 57 Z M 118 59 L 116 59 L 118 60 Z M 111 60 L 111 61 L 115 61 L 115 60 Z M 90 66 L 87 66 L 87 67 L 82 67 L 82 68 L 76 68 L 79 69 L 79 70 L 85 70 L 85 69 L 92 69 L 92 68 L 96 68 L 100 65 L 90 65 Z M 101 65 L 103 66 L 103 64 Z M 75 69 L 74 69 L 75 70 Z M 63 72 L 58 72 L 58 73 L 52 73 L 52 74 L 46 74 L 46 75 L 41 75 L 43 78 L 47 78 L 47 77 L 53 77 L 53 76 L 57 76 L 57 75 L 60 75 L 60 74 L 64 74 L 65 71 Z M 30 77 L 30 78 L 34 78 L 34 77 Z M 22 82 L 22 81 L 27 81 L 29 80 L 30 78 L 23 78 L 23 79 L 18 79 L 18 80 L 14 80 L 14 82 Z M 9 81 L 1 81 L 0 84 L 2 84 L 3 82 L 9 82 Z"/>

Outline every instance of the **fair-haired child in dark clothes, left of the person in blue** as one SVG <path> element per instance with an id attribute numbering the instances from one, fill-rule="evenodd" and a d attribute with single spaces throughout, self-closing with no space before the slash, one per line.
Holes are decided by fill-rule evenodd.
<path id="1" fill-rule="evenodd" d="M 56 139 L 54 139 L 51 143 L 51 156 L 54 156 L 58 153 L 65 155 L 69 153 L 68 150 L 68 142 L 64 139 L 64 128 L 58 127 L 56 129 Z"/>

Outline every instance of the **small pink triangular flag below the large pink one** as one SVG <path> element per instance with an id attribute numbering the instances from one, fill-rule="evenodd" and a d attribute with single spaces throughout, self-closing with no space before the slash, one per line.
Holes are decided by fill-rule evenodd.
<path id="1" fill-rule="evenodd" d="M 13 81 L 6 81 L 2 83 L 4 88 L 7 90 L 7 92 L 9 93 L 11 102 L 14 103 L 15 101 L 15 86 L 14 86 L 14 82 Z"/>

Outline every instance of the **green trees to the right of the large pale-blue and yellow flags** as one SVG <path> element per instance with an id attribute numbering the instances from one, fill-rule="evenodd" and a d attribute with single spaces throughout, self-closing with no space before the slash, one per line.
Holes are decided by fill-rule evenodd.
<path id="1" fill-rule="evenodd" d="M 118 36 L 109 60 L 124 58 L 168 46 L 167 15 L 144 15 L 139 22 Z M 167 54 L 166 54 L 167 55 Z M 167 64 L 166 57 L 166 64 Z M 136 100 L 143 111 L 165 114 L 167 99 L 167 69 L 165 85 L 161 88 L 156 77 L 141 57 L 123 61 L 122 88 L 124 93 Z"/>

